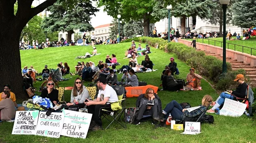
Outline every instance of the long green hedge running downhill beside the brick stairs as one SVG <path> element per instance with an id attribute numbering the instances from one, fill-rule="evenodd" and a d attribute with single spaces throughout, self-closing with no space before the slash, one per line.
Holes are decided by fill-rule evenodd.
<path id="1" fill-rule="evenodd" d="M 130 42 L 148 43 L 149 45 L 169 53 L 175 53 L 178 59 L 184 61 L 189 66 L 197 69 L 198 73 L 215 83 L 217 90 L 234 89 L 237 83 L 233 81 L 237 74 L 244 74 L 245 70 L 232 71 L 230 63 L 227 63 L 227 74 L 222 74 L 222 61 L 211 55 L 205 55 L 203 51 L 197 51 L 194 48 L 181 43 L 167 42 L 161 38 L 139 37 L 126 40 Z"/>

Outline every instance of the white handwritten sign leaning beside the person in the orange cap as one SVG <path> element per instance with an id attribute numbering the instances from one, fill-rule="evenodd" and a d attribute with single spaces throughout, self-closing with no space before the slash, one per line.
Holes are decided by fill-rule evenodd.
<path id="1" fill-rule="evenodd" d="M 243 115 L 245 108 L 246 104 L 226 98 L 219 114 L 224 116 L 240 117 Z"/>

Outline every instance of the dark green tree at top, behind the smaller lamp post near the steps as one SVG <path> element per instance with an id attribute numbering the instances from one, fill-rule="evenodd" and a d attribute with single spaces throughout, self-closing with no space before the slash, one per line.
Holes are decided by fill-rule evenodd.
<path id="1" fill-rule="evenodd" d="M 158 0 L 154 6 L 155 17 L 163 19 L 168 16 L 167 5 L 172 5 L 170 15 L 181 18 L 181 34 L 186 32 L 186 17 L 209 19 L 211 11 L 216 8 L 212 0 Z"/>

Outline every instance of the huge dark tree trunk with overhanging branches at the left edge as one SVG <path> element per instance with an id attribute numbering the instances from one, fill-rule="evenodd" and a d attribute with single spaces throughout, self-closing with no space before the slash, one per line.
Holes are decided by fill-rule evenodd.
<path id="1" fill-rule="evenodd" d="M 17 1 L 17 13 L 14 5 Z M 20 98 L 26 98 L 23 91 L 19 41 L 22 30 L 35 15 L 51 6 L 56 0 L 46 0 L 32 8 L 34 0 L 1 0 L 0 2 L 0 87 L 11 84 L 12 91 Z M 77 0 L 63 0 L 63 7 L 74 7 Z M 4 62 L 2 62 L 4 61 Z M 11 71 L 10 71 L 11 69 Z"/>

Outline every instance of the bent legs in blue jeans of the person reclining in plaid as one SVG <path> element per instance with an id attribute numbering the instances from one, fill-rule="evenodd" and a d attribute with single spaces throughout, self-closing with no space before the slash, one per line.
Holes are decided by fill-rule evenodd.
<path id="1" fill-rule="evenodd" d="M 166 105 L 165 109 L 163 109 L 163 112 L 166 114 L 165 119 L 167 119 L 169 114 L 171 113 L 171 116 L 174 117 L 175 119 L 182 120 L 181 119 L 181 115 L 183 114 L 182 109 L 183 108 L 180 106 L 180 104 L 177 101 L 175 100 L 171 101 Z"/>

